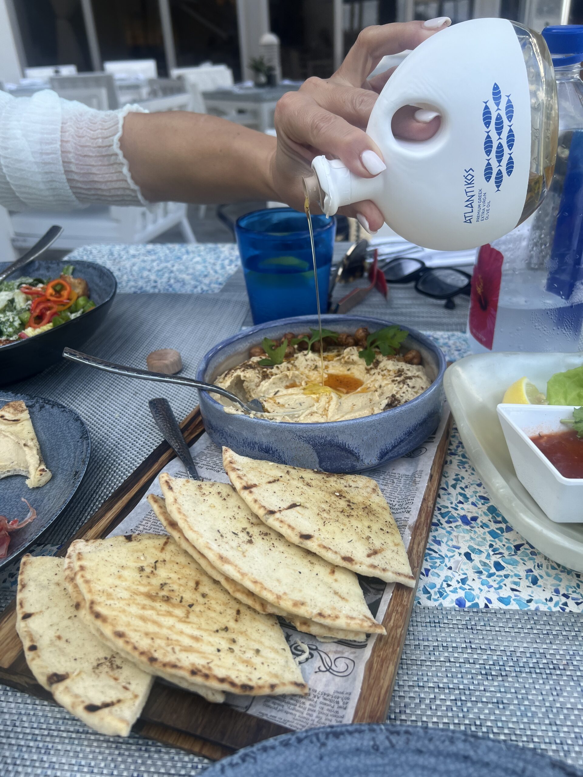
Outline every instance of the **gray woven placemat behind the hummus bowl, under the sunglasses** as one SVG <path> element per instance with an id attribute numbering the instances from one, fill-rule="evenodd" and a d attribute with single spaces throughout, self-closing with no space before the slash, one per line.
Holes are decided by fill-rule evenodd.
<path id="1" fill-rule="evenodd" d="M 358 285 L 361 285 L 359 283 Z M 344 297 L 353 285 L 337 285 L 334 289 L 333 299 L 338 301 Z M 243 270 L 239 268 L 227 280 L 219 294 L 229 293 L 246 301 L 247 292 Z M 385 300 L 382 294 L 373 289 L 368 297 L 359 305 L 355 305 L 349 314 L 372 315 L 388 321 L 394 321 L 401 326 L 413 326 L 423 331 L 438 329 L 442 332 L 463 332 L 466 330 L 470 298 L 459 295 L 456 297 L 456 308 L 446 310 L 443 301 L 417 294 L 410 285 L 389 286 L 389 298 Z M 246 315 L 244 326 L 252 326 L 251 312 Z"/>

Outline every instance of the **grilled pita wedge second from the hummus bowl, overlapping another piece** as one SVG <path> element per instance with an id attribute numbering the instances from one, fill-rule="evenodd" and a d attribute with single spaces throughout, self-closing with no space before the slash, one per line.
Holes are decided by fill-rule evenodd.
<path id="1" fill-rule="evenodd" d="M 263 524 L 228 483 L 159 477 L 166 510 L 219 572 L 281 614 L 349 632 L 385 629 L 375 621 L 357 577 Z"/>

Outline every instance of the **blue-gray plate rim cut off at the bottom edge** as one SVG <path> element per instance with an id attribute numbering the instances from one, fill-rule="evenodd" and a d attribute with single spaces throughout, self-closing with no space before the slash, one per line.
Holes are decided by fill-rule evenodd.
<path id="1" fill-rule="evenodd" d="M 581 772 L 534 750 L 422 726 L 326 726 L 246 747 L 204 777 L 566 777 Z"/>

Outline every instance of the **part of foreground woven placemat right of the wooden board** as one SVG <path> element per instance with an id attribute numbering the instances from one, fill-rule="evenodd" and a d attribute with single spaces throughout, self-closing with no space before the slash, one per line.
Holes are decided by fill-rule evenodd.
<path id="1" fill-rule="evenodd" d="M 583 615 L 414 608 L 389 723 L 535 747 L 583 767 Z"/>

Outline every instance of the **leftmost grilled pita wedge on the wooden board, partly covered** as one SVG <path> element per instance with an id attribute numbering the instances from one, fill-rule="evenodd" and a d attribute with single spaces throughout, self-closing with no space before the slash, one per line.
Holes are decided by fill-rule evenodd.
<path id="1" fill-rule="evenodd" d="M 87 629 L 68 595 L 63 559 L 23 557 L 16 631 L 30 671 L 55 702 L 99 733 L 127 737 L 152 675 Z"/>

